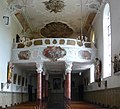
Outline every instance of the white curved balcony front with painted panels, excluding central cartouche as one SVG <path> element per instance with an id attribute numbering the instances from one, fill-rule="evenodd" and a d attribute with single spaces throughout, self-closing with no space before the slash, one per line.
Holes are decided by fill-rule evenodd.
<path id="1" fill-rule="evenodd" d="M 12 49 L 12 62 L 36 62 L 49 61 L 43 55 L 48 46 L 60 47 L 65 50 L 66 55 L 58 60 L 72 62 L 90 62 L 96 57 L 96 48 L 91 42 L 81 42 L 70 38 L 40 38 L 14 43 Z M 21 53 L 22 52 L 22 53 Z M 22 55 L 30 55 L 26 59 L 20 59 Z"/>

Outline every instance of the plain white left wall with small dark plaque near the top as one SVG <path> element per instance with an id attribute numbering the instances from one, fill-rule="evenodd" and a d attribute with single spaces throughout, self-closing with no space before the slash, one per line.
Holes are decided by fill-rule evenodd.
<path id="1" fill-rule="evenodd" d="M 7 64 L 11 59 L 13 38 L 22 29 L 15 16 L 7 12 L 6 6 L 5 0 L 0 0 L 0 90 L 1 83 L 7 82 Z M 4 24 L 4 15 L 9 17 L 9 25 Z M 6 91 L 10 91 L 10 88 Z"/>

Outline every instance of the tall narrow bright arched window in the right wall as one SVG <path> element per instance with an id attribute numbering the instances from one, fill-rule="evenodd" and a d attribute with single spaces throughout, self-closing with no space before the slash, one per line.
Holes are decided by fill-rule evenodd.
<path id="1" fill-rule="evenodd" d="M 111 76 L 111 22 L 108 3 L 103 11 L 103 47 L 103 78 L 105 78 Z"/>

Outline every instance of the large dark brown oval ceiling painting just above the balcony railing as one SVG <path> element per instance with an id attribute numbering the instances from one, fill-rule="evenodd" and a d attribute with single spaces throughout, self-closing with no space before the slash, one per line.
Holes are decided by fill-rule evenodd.
<path id="1" fill-rule="evenodd" d="M 73 30 L 65 23 L 51 22 L 46 24 L 40 33 L 47 38 L 67 38 L 72 36 Z"/>

